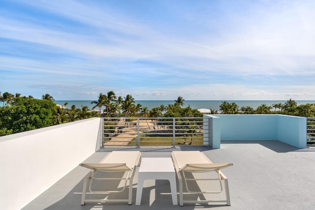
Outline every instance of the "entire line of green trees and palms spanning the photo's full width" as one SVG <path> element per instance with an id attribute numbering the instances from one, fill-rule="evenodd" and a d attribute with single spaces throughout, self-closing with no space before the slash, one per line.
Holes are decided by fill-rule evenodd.
<path id="1" fill-rule="evenodd" d="M 20 93 L 11 94 L 0 92 L 0 136 L 47 127 L 66 122 L 83 120 L 92 117 L 202 117 L 197 109 L 185 105 L 185 99 L 178 96 L 174 104 L 167 106 L 161 104 L 151 110 L 148 107 L 135 103 L 134 98 L 127 94 L 125 97 L 116 96 L 114 91 L 106 94 L 99 93 L 98 99 L 92 101 L 92 111 L 87 106 L 66 108 L 57 106 L 55 99 L 50 94 L 42 95 L 41 99 L 35 99 L 31 95 L 21 96 Z M 102 110 L 102 108 L 105 109 Z M 98 111 L 94 111 L 97 109 Z M 232 102 L 223 101 L 220 105 L 221 114 L 284 114 L 301 117 L 315 117 L 315 104 L 297 105 L 289 99 L 284 104 L 278 103 L 272 106 L 261 104 L 255 110 L 252 107 L 241 107 Z M 212 114 L 218 111 L 211 110 Z"/>

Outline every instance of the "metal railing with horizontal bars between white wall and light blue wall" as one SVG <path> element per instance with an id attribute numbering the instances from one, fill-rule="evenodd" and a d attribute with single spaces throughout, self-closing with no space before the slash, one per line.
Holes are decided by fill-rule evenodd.
<path id="1" fill-rule="evenodd" d="M 211 118 L 102 118 L 102 146 L 207 146 Z"/>

